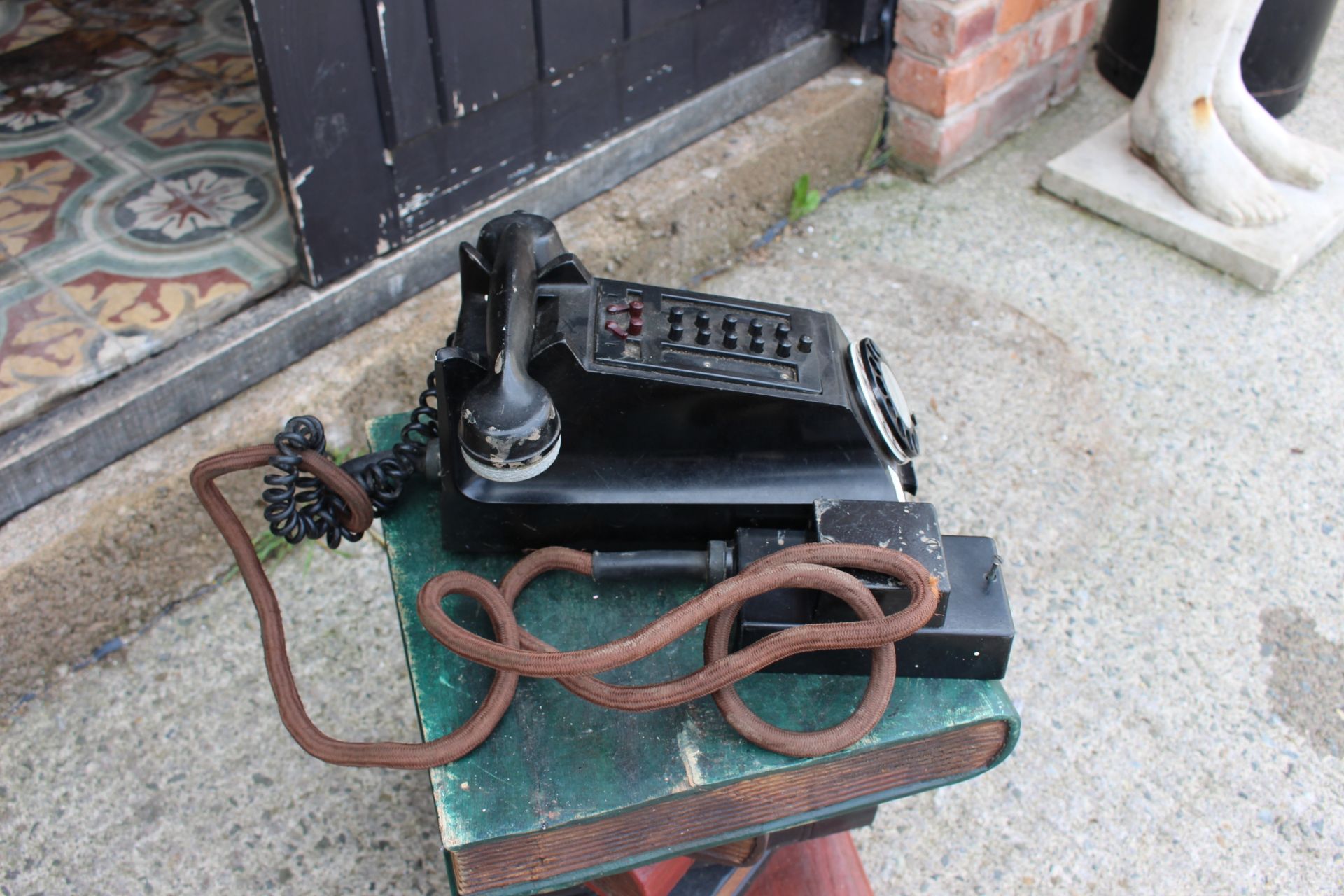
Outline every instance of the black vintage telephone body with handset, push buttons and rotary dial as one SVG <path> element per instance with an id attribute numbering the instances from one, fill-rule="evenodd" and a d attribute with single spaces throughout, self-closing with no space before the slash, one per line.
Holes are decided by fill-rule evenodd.
<path id="1" fill-rule="evenodd" d="M 597 279 L 526 214 L 461 269 L 434 360 L 453 549 L 691 547 L 915 492 L 900 390 L 831 314 Z"/>

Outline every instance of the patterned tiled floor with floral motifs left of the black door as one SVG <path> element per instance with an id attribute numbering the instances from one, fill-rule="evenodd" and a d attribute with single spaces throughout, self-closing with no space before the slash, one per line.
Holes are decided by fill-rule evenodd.
<path id="1" fill-rule="evenodd" d="M 0 431 L 274 292 L 239 0 L 0 0 Z"/>

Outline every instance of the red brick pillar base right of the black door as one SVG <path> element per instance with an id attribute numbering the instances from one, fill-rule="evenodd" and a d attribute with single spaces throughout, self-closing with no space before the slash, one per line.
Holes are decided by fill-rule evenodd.
<path id="1" fill-rule="evenodd" d="M 888 140 L 930 180 L 1078 86 L 1098 0 L 899 0 Z"/>

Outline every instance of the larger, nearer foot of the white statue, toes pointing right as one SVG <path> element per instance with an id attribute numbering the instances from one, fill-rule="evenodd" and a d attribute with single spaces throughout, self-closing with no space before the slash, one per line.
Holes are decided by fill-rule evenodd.
<path id="1" fill-rule="evenodd" d="M 1288 218 L 1284 199 L 1232 142 L 1208 97 L 1157 102 L 1146 86 L 1129 113 L 1130 141 L 1176 192 L 1231 227 L 1265 227 Z"/>

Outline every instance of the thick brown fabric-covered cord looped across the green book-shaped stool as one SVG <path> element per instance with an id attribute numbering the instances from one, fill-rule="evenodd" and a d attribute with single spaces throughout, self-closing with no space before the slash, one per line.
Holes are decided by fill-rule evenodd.
<path id="1" fill-rule="evenodd" d="M 593 557 L 570 548 L 543 548 L 519 560 L 499 586 L 474 574 L 456 571 L 430 579 L 419 591 L 417 613 L 425 629 L 454 653 L 496 670 L 485 700 L 470 719 L 452 733 L 429 743 L 337 740 L 320 731 L 304 709 L 289 669 L 276 592 L 247 531 L 215 485 L 220 476 L 267 466 L 274 453 L 274 446 L 258 445 L 207 458 L 192 470 L 191 485 L 224 536 L 251 592 L 261 619 L 266 673 L 285 728 L 300 747 L 337 766 L 431 768 L 460 759 L 480 746 L 499 724 L 513 700 L 519 676 L 555 678 L 585 700 L 626 712 L 664 709 L 712 695 L 727 723 L 751 743 L 789 756 L 820 756 L 844 750 L 878 724 L 895 685 L 894 642 L 923 627 L 938 604 L 937 580 L 906 553 L 867 544 L 800 544 L 753 563 L 634 634 L 595 647 L 559 652 L 519 626 L 513 603 L 523 588 L 543 572 L 564 570 L 591 575 Z M 352 532 L 368 528 L 374 508 L 353 478 L 314 451 L 304 451 L 300 469 L 325 482 L 345 501 L 349 508 L 345 523 Z M 872 594 L 843 568 L 896 578 L 911 590 L 910 606 L 884 617 Z M 798 626 L 730 654 L 728 639 L 738 607 L 758 594 L 784 587 L 833 594 L 853 607 L 860 621 Z M 484 607 L 496 641 L 472 634 L 448 618 L 442 602 L 450 594 L 469 596 Z M 700 669 L 671 681 L 633 686 L 612 685 L 594 677 L 661 650 L 702 622 L 708 625 L 704 666 Z M 732 686 L 753 672 L 796 653 L 847 647 L 872 650 L 872 673 L 853 715 L 831 728 L 788 731 L 770 725 L 747 708 Z"/>

